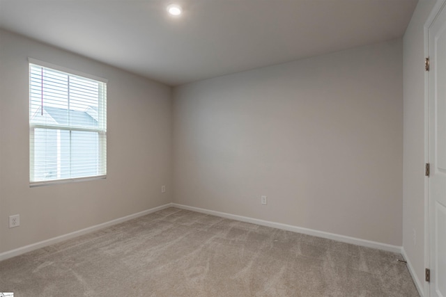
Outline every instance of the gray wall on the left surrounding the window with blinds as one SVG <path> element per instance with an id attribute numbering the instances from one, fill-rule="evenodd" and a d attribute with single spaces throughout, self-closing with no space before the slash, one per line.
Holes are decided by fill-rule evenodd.
<path id="1" fill-rule="evenodd" d="M 28 57 L 109 80 L 107 179 L 29 187 Z M 166 204 L 171 193 L 171 88 L 0 31 L 0 252 Z M 21 225 L 8 229 L 13 214 Z"/>

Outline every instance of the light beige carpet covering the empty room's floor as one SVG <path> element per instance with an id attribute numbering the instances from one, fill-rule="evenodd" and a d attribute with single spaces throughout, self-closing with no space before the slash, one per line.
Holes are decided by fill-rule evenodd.
<path id="1" fill-rule="evenodd" d="M 22 296 L 418 296 L 401 255 L 176 208 L 0 262 Z"/>

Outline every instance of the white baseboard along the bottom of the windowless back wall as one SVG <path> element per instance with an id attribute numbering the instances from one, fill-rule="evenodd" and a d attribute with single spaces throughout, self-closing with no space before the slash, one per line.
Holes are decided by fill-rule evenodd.
<path id="1" fill-rule="evenodd" d="M 389 252 L 401 253 L 401 246 L 392 246 L 387 243 L 380 243 L 377 241 L 358 239 L 358 238 L 351 237 L 351 236 L 344 236 L 344 235 L 334 234 L 334 233 L 330 233 L 330 232 L 312 230 L 312 229 L 308 229 L 308 228 L 304 228 L 304 227 L 297 227 L 297 226 L 293 226 L 293 225 L 275 223 L 275 222 L 270 222 L 268 220 L 260 220 L 258 218 L 248 218 L 246 216 L 238 216 L 235 214 L 226 214 L 226 213 L 220 212 L 220 211 L 201 209 L 198 207 L 189 207 L 189 206 L 183 205 L 183 204 L 171 203 L 171 206 L 177 207 L 179 209 L 187 209 L 190 211 L 197 211 L 197 212 L 201 212 L 203 214 L 211 214 L 213 216 L 220 216 L 222 218 L 230 218 L 232 220 L 241 220 L 242 222 L 246 222 L 246 223 L 252 223 L 252 224 L 262 225 L 262 226 L 266 226 L 266 227 L 273 227 L 273 228 L 277 228 L 277 229 L 287 230 L 287 231 L 291 231 L 291 232 L 298 232 L 298 233 L 303 233 L 303 234 L 307 234 L 307 235 L 323 237 L 325 239 L 332 239 L 335 241 L 341 241 L 341 242 L 345 242 L 345 243 L 352 243 L 357 246 L 366 246 L 368 248 L 377 248 L 379 250 L 387 250 Z"/>

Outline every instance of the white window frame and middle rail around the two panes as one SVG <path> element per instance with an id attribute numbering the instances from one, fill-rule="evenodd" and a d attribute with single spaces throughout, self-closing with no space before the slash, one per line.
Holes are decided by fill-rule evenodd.
<path id="1" fill-rule="evenodd" d="M 83 182 L 83 181 L 89 181 L 94 179 L 105 179 L 107 177 L 107 83 L 108 79 L 104 79 L 102 77 L 96 77 L 91 74 L 86 74 L 84 72 L 79 72 L 77 70 L 72 70 L 66 67 L 62 67 L 59 65 L 54 65 L 52 63 L 47 63 L 44 61 L 39 61 L 34 58 L 28 58 L 28 65 L 29 65 L 29 107 L 28 107 L 28 119 L 29 119 L 29 186 L 45 186 L 49 184 L 63 184 L 67 182 Z M 103 125 L 98 125 L 97 128 L 91 128 L 91 127 L 73 127 L 70 125 L 43 125 L 43 124 L 33 124 L 31 123 L 31 65 L 36 65 L 38 67 L 46 67 L 50 70 L 56 70 L 58 72 L 64 72 L 68 75 L 73 75 L 76 77 L 81 77 L 84 79 L 91 79 L 94 81 L 98 81 L 100 83 L 104 83 L 102 90 L 100 90 L 100 93 L 102 93 L 102 99 L 98 100 L 98 104 L 100 104 L 99 110 L 103 112 Z M 102 105 L 102 106 L 101 106 Z M 47 180 L 39 180 L 39 181 L 33 181 L 33 166 L 34 166 L 34 131 L 36 129 L 54 129 L 56 131 L 58 130 L 64 130 L 64 131 L 89 131 L 89 132 L 96 132 L 98 133 L 98 145 L 99 145 L 99 152 L 100 152 L 100 159 L 102 160 L 102 166 L 100 169 L 102 169 L 103 174 L 100 175 L 89 175 L 85 177 L 70 177 L 65 179 L 47 179 Z"/>

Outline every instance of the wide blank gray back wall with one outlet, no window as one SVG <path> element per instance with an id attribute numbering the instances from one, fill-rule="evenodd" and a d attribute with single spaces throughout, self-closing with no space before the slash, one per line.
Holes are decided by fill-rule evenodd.
<path id="1" fill-rule="evenodd" d="M 174 202 L 401 246 L 402 49 L 175 88 Z"/>

